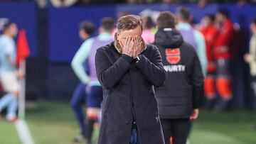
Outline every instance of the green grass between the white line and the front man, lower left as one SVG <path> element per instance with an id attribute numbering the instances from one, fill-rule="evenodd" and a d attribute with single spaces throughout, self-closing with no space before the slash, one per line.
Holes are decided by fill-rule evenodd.
<path id="1" fill-rule="evenodd" d="M 41 101 L 26 121 L 36 144 L 70 144 L 79 132 L 68 104 Z"/>

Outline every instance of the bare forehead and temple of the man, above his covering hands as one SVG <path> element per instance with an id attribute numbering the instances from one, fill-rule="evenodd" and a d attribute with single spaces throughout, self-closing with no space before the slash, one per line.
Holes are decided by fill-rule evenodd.
<path id="1" fill-rule="evenodd" d="M 131 37 L 142 37 L 142 28 L 140 26 L 137 26 L 137 28 L 134 28 L 132 30 L 127 30 L 127 31 L 119 31 L 117 33 L 117 40 L 119 41 L 119 43 L 121 43 L 122 45 L 124 45 L 124 42 L 126 40 L 126 38 L 128 38 L 129 36 Z"/>

